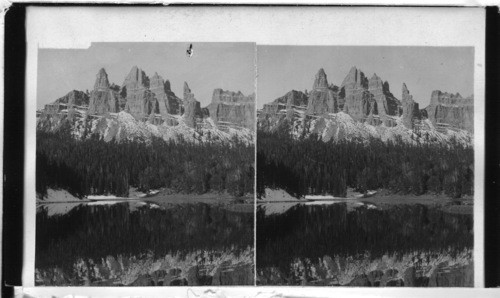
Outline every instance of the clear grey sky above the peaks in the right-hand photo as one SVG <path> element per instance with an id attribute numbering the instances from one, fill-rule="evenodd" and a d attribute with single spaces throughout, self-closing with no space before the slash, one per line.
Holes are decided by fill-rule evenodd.
<path id="1" fill-rule="evenodd" d="M 295 89 L 311 90 L 324 68 L 329 84 L 340 86 L 352 66 L 388 81 L 401 99 L 403 82 L 424 108 L 431 92 L 474 91 L 473 47 L 262 46 L 258 45 L 257 107 Z"/>

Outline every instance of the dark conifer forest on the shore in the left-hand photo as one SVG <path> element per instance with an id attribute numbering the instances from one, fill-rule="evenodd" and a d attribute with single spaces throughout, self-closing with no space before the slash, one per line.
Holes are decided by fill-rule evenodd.
<path id="1" fill-rule="evenodd" d="M 63 188 L 89 194 L 127 196 L 129 187 L 147 191 L 167 187 L 177 192 L 252 193 L 254 147 L 231 144 L 105 142 L 97 136 L 75 140 L 63 131 L 37 131 L 36 191 Z"/>

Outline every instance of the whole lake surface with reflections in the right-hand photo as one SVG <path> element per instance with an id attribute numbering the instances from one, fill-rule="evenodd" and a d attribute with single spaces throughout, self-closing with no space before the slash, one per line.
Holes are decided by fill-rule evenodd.
<path id="1" fill-rule="evenodd" d="M 418 204 L 281 205 L 257 211 L 257 284 L 473 286 L 471 214 Z"/>

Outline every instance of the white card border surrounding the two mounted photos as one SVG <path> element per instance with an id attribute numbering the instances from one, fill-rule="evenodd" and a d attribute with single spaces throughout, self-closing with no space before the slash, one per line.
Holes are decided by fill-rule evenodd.
<path id="1" fill-rule="evenodd" d="M 390 14 L 390 18 L 388 14 Z M 26 241 L 23 252 L 25 260 L 23 285 L 34 285 L 36 214 L 34 204 L 36 143 L 34 135 L 38 48 L 85 48 L 90 45 L 90 42 L 98 41 L 175 42 L 189 40 L 193 42 L 256 42 L 257 45 L 474 46 L 474 275 L 475 287 L 484 286 L 484 9 L 423 7 L 30 7 L 26 19 L 28 42 L 25 90 L 27 95 L 24 198 L 24 214 L 26 216 L 24 235 Z M 61 26 L 61 24 L 65 25 Z M 93 26 L 89 26 L 89 24 Z M 266 287 L 264 289 L 283 292 L 287 288 L 289 287 Z M 37 289 L 40 289 L 40 293 L 47 293 L 48 288 Z M 65 289 L 63 292 L 67 293 L 68 288 Z M 70 291 L 73 293 L 85 291 L 85 288 L 71 289 Z M 127 296 L 132 293 L 141 295 L 140 293 L 144 293 L 144 290 L 129 288 Z M 105 290 L 103 293 L 115 292 L 108 291 Z M 154 290 L 146 292 L 150 293 L 150 291 L 154 295 Z M 307 290 L 299 292 L 303 292 L 305 295 L 318 293 L 320 296 L 328 296 L 328 294 L 333 293 L 350 295 L 350 291 L 324 289 L 324 292 L 321 292 L 321 289 L 307 288 Z M 359 289 L 354 294 L 367 293 L 369 295 L 368 293 L 371 293 L 374 296 L 383 294 L 398 297 L 401 294 L 411 296 L 418 292 L 422 294 L 421 290 L 417 289 L 370 289 L 368 292 L 366 289 Z M 440 290 L 432 292 L 432 295 L 436 294 L 437 296 L 439 292 Z M 461 290 L 456 294 L 460 297 L 461 293 L 466 292 L 468 291 Z M 157 293 L 165 294 L 165 288 Z M 321 293 L 324 294 L 321 295 Z M 431 292 L 427 293 L 431 294 Z M 468 292 L 467 296 L 470 294 Z"/>

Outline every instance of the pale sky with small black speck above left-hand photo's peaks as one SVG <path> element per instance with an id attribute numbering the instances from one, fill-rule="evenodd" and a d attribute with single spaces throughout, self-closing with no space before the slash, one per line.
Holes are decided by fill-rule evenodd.
<path id="1" fill-rule="evenodd" d="M 40 49 L 38 52 L 37 108 L 71 90 L 94 88 L 96 74 L 104 67 L 110 83 L 122 85 L 137 65 L 147 76 L 158 72 L 170 80 L 171 89 L 182 98 L 184 81 L 200 101 L 208 105 L 215 88 L 255 90 L 254 43 L 193 43 L 194 54 L 186 56 L 186 43 L 93 43 L 89 49 Z"/>

